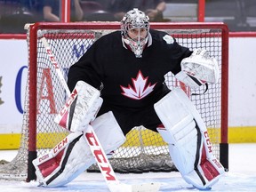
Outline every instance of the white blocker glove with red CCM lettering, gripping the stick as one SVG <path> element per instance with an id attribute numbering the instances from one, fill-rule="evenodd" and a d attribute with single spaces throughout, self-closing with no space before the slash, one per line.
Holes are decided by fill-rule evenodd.
<path id="1" fill-rule="evenodd" d="M 54 121 L 71 132 L 83 132 L 95 119 L 102 102 L 99 90 L 78 81 Z"/>

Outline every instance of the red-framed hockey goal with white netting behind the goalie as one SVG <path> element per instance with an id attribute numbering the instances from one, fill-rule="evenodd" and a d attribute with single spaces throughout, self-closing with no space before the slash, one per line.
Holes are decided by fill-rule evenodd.
<path id="1" fill-rule="evenodd" d="M 53 122 L 65 103 L 66 93 L 40 39 L 44 36 L 67 78 L 68 68 L 93 42 L 113 30 L 119 23 L 36 23 L 28 28 L 28 84 L 26 88 L 21 141 L 12 162 L 0 165 L 0 179 L 34 180 L 32 160 L 59 143 L 68 132 Z M 196 105 L 208 128 L 213 153 L 228 168 L 228 28 L 222 23 L 153 23 L 151 28 L 164 30 L 191 50 L 203 48 L 219 61 L 220 81 L 210 84 L 204 94 L 166 74 L 166 84 L 181 86 Z M 156 63 L 157 65 L 157 63 Z M 202 87 L 196 93 L 203 93 Z M 159 133 L 145 127 L 134 127 L 124 145 L 110 158 L 116 172 L 172 172 L 175 166 L 168 147 Z M 223 147 L 224 146 L 224 147 Z M 93 164 L 88 172 L 98 172 Z"/>

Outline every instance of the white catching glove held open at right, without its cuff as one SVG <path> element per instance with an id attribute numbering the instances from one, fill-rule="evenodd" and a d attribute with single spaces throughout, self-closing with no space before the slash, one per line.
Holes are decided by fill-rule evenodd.
<path id="1" fill-rule="evenodd" d="M 219 66 L 206 50 L 196 49 L 188 58 L 181 60 L 181 70 L 200 82 L 216 84 L 219 80 Z"/>

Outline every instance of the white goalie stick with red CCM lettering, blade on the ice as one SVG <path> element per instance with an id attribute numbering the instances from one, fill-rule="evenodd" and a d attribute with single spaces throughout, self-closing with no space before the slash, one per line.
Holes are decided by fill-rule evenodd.
<path id="1" fill-rule="evenodd" d="M 68 94 L 68 97 L 71 95 L 71 92 L 68 89 L 68 84 L 66 83 L 64 76 L 61 73 L 60 66 L 55 60 L 55 57 L 53 55 L 53 52 L 50 48 L 50 44 L 48 44 L 45 37 L 41 38 L 41 42 L 44 44 L 45 51 L 47 52 L 49 59 L 52 62 L 52 66 L 55 68 L 57 75 L 60 78 L 60 83 L 65 88 L 65 91 Z M 70 101 L 70 100 L 69 100 Z M 96 133 L 94 132 L 92 125 L 88 125 L 86 130 L 84 131 L 84 138 L 86 139 L 92 155 L 95 158 L 95 161 L 97 162 L 100 172 L 103 175 L 105 181 L 107 182 L 108 189 L 111 192 L 156 192 L 160 188 L 160 183 L 143 183 L 138 185 L 129 185 L 121 183 L 116 178 L 116 173 L 114 172 L 111 164 L 108 161 L 108 157 L 103 150 L 100 140 L 98 139 Z M 99 158 L 99 155 L 101 158 Z"/>

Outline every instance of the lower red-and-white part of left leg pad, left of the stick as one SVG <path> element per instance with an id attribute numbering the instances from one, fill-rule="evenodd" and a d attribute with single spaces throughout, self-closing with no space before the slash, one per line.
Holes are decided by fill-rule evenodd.
<path id="1" fill-rule="evenodd" d="M 93 156 L 82 132 L 70 133 L 48 154 L 33 161 L 40 185 L 50 187 L 65 185 L 92 163 Z"/>

